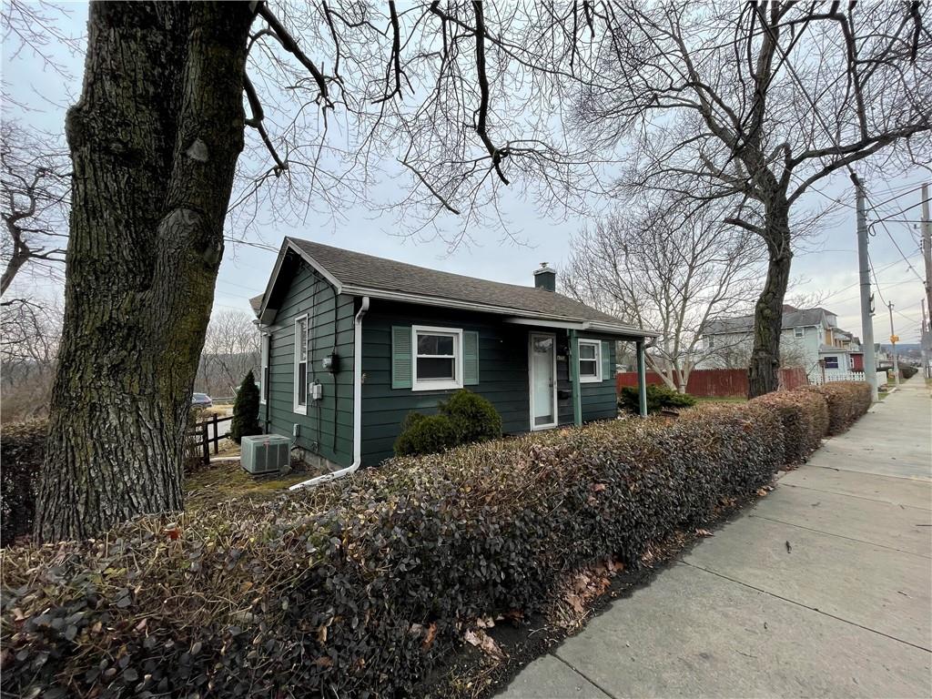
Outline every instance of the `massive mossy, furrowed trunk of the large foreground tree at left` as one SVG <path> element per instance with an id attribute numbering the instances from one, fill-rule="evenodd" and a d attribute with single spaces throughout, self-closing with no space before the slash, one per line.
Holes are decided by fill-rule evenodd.
<path id="1" fill-rule="evenodd" d="M 247 3 L 93 3 L 69 111 L 65 318 L 45 541 L 182 506 L 185 418 L 243 142 Z"/>

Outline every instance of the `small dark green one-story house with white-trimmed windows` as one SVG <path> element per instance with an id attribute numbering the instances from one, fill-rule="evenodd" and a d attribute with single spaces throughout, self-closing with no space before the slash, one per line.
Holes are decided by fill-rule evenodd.
<path id="1" fill-rule="evenodd" d="M 643 377 L 655 334 L 557 294 L 555 278 L 544 265 L 534 286 L 504 284 L 286 238 L 251 299 L 265 432 L 330 479 L 391 457 L 404 416 L 460 388 L 506 433 L 614 418 L 615 341 L 637 344 Z"/>

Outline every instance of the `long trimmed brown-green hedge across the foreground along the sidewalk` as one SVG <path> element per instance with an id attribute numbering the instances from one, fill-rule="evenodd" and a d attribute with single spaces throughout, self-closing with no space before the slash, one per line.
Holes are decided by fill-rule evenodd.
<path id="1" fill-rule="evenodd" d="M 609 556 L 637 565 L 767 484 L 784 454 L 772 406 L 707 406 L 10 550 L 4 689 L 414 693 L 475 618 L 541 610 L 569 571 Z"/>

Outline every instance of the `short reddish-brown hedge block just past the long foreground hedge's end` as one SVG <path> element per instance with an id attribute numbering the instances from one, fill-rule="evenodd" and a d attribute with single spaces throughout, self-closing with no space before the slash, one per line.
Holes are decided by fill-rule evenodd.
<path id="1" fill-rule="evenodd" d="M 750 403 L 765 405 L 780 416 L 783 458 L 788 466 L 805 461 L 829 432 L 829 404 L 815 391 L 774 391 Z"/>

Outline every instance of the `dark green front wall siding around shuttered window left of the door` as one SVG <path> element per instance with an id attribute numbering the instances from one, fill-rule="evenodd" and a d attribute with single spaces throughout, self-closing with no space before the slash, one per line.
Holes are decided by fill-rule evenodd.
<path id="1" fill-rule="evenodd" d="M 478 332 L 479 383 L 465 388 L 495 406 L 504 432 L 528 431 L 528 328 L 502 323 L 496 316 L 372 299 L 363 320 L 363 464 L 391 457 L 405 415 L 412 410 L 436 413 L 440 401 L 454 392 L 391 388 L 392 325 Z"/>

